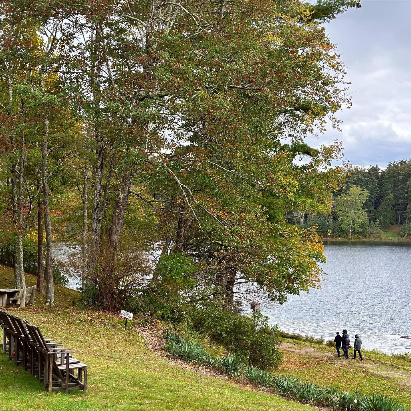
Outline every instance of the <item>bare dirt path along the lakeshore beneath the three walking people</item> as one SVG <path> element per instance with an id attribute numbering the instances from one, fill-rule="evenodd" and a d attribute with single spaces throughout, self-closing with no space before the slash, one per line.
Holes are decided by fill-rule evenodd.
<path id="1" fill-rule="evenodd" d="M 313 347 L 302 346 L 300 344 L 292 344 L 289 342 L 283 342 L 281 349 L 284 351 L 290 351 L 296 354 L 300 354 L 309 358 L 316 358 L 318 360 L 327 360 L 328 362 L 335 364 L 339 367 L 344 367 L 344 358 L 337 359 L 333 353 L 321 350 L 321 348 L 316 349 Z M 378 363 L 370 362 L 365 359 L 361 366 L 364 367 L 368 372 L 373 374 L 381 375 L 387 378 L 398 378 L 399 383 L 411 386 L 411 374 L 406 372 L 401 372 L 398 369 L 387 367 L 386 365 L 380 365 Z"/>

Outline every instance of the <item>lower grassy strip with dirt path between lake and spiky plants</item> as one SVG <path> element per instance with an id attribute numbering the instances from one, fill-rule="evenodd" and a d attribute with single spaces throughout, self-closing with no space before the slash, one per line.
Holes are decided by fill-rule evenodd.
<path id="1" fill-rule="evenodd" d="M 411 361 L 364 351 L 365 361 L 337 360 L 332 347 L 282 339 L 286 351 L 284 364 L 276 372 L 322 385 L 332 384 L 342 390 L 384 393 L 411 404 Z M 349 351 L 350 357 L 353 350 Z"/>

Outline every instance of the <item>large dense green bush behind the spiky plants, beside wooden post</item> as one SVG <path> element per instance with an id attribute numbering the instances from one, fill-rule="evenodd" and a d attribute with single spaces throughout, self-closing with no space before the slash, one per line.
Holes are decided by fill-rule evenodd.
<path id="1" fill-rule="evenodd" d="M 227 351 L 240 357 L 245 363 L 263 369 L 282 363 L 278 330 L 270 328 L 267 320 L 257 315 L 256 327 L 252 317 L 236 314 L 216 307 L 192 312 L 193 328 L 222 344 Z"/>

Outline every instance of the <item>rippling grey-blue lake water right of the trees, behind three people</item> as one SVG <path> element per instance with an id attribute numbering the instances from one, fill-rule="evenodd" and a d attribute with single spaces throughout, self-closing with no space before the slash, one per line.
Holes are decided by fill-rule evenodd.
<path id="1" fill-rule="evenodd" d="M 262 309 L 281 330 L 334 339 L 346 328 L 354 343 L 386 353 L 411 351 L 411 244 L 334 242 L 324 245 L 326 280 L 320 290 L 289 296 Z"/>

